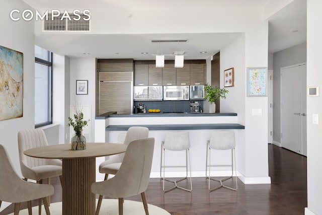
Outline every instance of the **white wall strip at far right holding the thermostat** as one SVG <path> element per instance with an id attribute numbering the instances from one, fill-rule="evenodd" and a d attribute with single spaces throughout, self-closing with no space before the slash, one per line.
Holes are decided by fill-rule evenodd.
<path id="1" fill-rule="evenodd" d="M 307 0 L 307 86 L 322 87 L 322 1 Z M 321 90 L 320 90 L 321 94 Z M 312 114 L 322 116 L 322 97 L 307 97 L 307 208 L 305 214 L 322 214 L 322 124 L 312 123 Z"/>

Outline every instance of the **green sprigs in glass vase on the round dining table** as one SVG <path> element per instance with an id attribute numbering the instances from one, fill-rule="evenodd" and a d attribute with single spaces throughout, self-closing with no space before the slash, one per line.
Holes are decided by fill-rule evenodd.
<path id="1" fill-rule="evenodd" d="M 72 126 L 75 135 L 71 138 L 71 150 L 85 150 L 86 137 L 82 135 L 83 127 L 88 125 L 90 120 L 84 120 L 84 113 L 81 110 L 76 110 L 74 119 L 68 117 L 69 123 L 67 126 Z"/>

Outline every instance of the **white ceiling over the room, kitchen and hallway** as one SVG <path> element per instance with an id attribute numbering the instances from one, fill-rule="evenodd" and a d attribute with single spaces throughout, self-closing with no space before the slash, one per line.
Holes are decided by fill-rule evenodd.
<path id="1" fill-rule="evenodd" d="M 24 0 L 34 9 L 104 8 L 109 9 L 167 9 L 205 7 L 264 7 L 278 0 Z M 297 32 L 292 32 L 297 30 Z M 185 59 L 206 59 L 239 37 L 241 33 L 187 33 L 187 34 L 36 34 L 37 45 L 60 55 L 97 58 L 153 59 L 151 54 L 162 49 L 171 54 L 174 47 L 186 51 Z M 151 43 L 153 39 L 188 38 L 187 43 Z M 209 47 L 211 41 L 211 47 Z M 269 18 L 269 52 L 297 45 L 306 41 L 306 0 L 294 0 Z M 201 51 L 207 51 L 201 54 Z M 148 54 L 141 54 L 148 52 Z M 171 59 L 170 57 L 168 57 Z M 167 56 L 166 56 L 167 59 Z"/>

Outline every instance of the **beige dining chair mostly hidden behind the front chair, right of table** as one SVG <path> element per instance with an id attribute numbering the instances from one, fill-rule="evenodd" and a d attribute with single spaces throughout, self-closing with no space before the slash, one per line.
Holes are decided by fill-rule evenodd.
<path id="1" fill-rule="evenodd" d="M 135 139 L 147 138 L 148 132 L 149 129 L 147 127 L 132 126 L 127 130 L 123 144 L 128 145 L 131 141 Z M 122 136 L 119 136 L 119 139 L 123 139 Z M 117 173 L 122 164 L 124 155 L 125 153 L 110 156 L 109 160 L 104 161 L 100 164 L 99 172 L 105 174 L 104 180 L 107 180 L 109 174 L 115 175 Z M 97 211 L 100 210 L 102 199 L 103 196 L 100 195 L 97 203 Z"/>

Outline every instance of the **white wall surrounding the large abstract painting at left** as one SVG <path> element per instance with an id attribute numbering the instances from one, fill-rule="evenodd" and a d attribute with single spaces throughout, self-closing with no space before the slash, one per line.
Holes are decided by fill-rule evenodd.
<path id="1" fill-rule="evenodd" d="M 24 54 L 23 64 L 23 117 L 0 121 L 1 140 L 0 144 L 7 149 L 16 172 L 20 173 L 18 157 L 18 131 L 34 127 L 35 107 L 35 43 L 34 22 L 17 21 L 10 19 L 13 9 L 24 10 L 29 8 L 20 0 L 1 1 L 0 20 L 2 33 L 0 34 L 0 45 L 20 51 Z M 2 210 L 9 203 L 4 202 Z"/>

